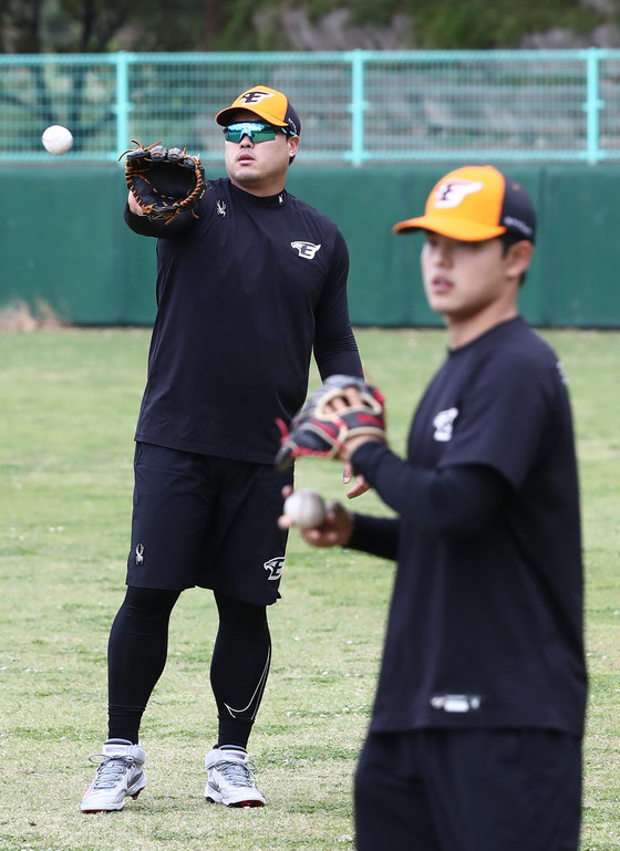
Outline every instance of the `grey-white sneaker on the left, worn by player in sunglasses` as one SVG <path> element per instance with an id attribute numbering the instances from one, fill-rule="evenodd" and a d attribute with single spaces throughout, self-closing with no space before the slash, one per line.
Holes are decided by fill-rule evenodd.
<path id="1" fill-rule="evenodd" d="M 82 798 L 82 812 L 122 810 L 125 798 L 137 798 L 146 786 L 143 765 L 146 755 L 140 745 L 126 739 L 108 739 L 102 754 L 89 757 L 99 765 L 95 779 Z"/>

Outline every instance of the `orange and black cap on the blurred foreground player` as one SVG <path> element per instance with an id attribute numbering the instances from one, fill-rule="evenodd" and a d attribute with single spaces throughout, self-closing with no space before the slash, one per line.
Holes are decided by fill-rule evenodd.
<path id="1" fill-rule="evenodd" d="M 435 184 L 424 216 L 399 221 L 392 230 L 431 230 L 464 242 L 510 233 L 534 242 L 536 212 L 531 198 L 493 166 L 464 166 Z"/>

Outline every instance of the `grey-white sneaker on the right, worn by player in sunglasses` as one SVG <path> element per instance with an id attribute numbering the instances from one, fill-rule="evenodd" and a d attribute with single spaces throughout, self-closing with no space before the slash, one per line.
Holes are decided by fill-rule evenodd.
<path id="1" fill-rule="evenodd" d="M 227 807 L 265 807 L 265 796 L 255 783 L 250 762 L 244 748 L 225 745 L 205 757 L 208 781 L 205 798 Z"/>

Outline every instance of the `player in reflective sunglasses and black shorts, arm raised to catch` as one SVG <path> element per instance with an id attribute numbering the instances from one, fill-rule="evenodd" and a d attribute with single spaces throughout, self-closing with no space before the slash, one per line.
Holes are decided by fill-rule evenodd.
<path id="1" fill-rule="evenodd" d="M 164 670 L 180 592 L 213 589 L 219 613 L 210 681 L 218 739 L 205 797 L 262 806 L 246 746 L 271 657 L 267 606 L 279 598 L 290 471 L 273 469 L 277 419 L 302 403 L 310 361 L 361 375 L 349 321 L 349 256 L 337 226 L 285 188 L 299 116 L 264 85 L 216 116 L 226 179 L 197 217 L 125 220 L 157 238 L 157 313 L 135 439 L 127 592 L 108 644 L 108 738 L 84 812 L 118 810 L 145 786 L 142 715 Z M 348 467 L 344 480 L 350 479 Z M 360 480 L 350 495 L 364 489 Z"/>

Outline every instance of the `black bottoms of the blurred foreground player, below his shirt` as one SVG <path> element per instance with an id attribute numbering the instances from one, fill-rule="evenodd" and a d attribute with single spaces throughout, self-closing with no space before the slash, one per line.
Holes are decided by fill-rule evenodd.
<path id="1" fill-rule="evenodd" d="M 581 740 L 555 730 L 371 733 L 358 851 L 577 851 Z"/>

